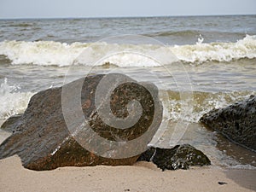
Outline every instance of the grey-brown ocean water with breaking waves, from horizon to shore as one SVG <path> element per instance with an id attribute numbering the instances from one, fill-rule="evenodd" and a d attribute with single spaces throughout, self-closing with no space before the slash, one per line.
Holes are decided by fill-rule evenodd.
<path id="1" fill-rule="evenodd" d="M 255 168 L 254 152 L 198 123 L 255 95 L 255 23 L 256 15 L 0 20 L 0 124 L 40 90 L 125 73 L 159 87 L 165 123 L 152 144 L 190 143 L 213 165 Z"/>

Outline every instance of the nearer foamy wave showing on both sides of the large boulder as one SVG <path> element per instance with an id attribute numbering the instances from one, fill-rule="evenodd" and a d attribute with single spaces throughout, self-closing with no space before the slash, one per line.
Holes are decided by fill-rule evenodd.
<path id="1" fill-rule="evenodd" d="M 172 122 L 183 120 L 191 123 L 197 123 L 204 113 L 213 108 L 224 108 L 256 95 L 256 91 L 253 90 L 217 93 L 194 91 L 190 100 L 183 101 L 177 91 L 168 90 L 167 95 L 165 93 L 166 91 L 160 90 L 160 99 L 168 103 L 165 105 L 164 117 Z M 0 120 L 23 113 L 34 94 L 30 91 L 21 92 L 19 85 L 10 85 L 8 80 L 4 79 L 4 82 L 0 84 Z"/>

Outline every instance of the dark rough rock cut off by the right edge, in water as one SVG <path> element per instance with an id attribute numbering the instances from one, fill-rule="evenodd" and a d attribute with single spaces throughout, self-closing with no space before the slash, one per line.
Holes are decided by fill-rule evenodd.
<path id="1" fill-rule="evenodd" d="M 242 147 L 256 150 L 256 96 L 204 114 L 201 123 Z"/>

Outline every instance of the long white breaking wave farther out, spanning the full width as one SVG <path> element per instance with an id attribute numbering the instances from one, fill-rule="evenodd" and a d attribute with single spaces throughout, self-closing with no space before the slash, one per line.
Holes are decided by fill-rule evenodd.
<path id="1" fill-rule="evenodd" d="M 158 51 L 159 54 L 169 53 L 170 50 L 177 56 L 179 61 L 201 64 L 207 61 L 234 61 L 239 59 L 256 58 L 256 35 L 247 35 L 236 43 L 203 43 L 203 39 L 199 38 L 196 44 L 192 45 L 174 45 L 160 46 L 150 44 L 107 44 L 107 43 L 59 43 L 55 41 L 3 41 L 0 43 L 0 55 L 9 58 L 13 65 L 32 64 L 43 66 L 70 66 L 74 63 L 77 65 L 95 65 L 95 63 L 79 62 L 77 58 L 84 49 L 90 49 L 89 57 L 98 54 L 107 54 L 112 50 L 119 50 L 119 55 L 113 55 L 105 60 L 97 63 L 103 65 L 106 62 L 112 63 L 119 67 L 155 67 L 160 64 L 149 60 L 145 56 L 125 54 L 126 51 L 139 50 L 144 55 L 150 55 L 151 51 Z M 90 60 L 90 59 L 89 59 Z M 171 61 L 170 61 L 171 64 Z"/>

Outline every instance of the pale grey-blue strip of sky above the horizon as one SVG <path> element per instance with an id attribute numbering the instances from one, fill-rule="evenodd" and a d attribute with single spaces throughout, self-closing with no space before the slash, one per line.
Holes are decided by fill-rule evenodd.
<path id="1" fill-rule="evenodd" d="M 0 18 L 256 15 L 255 0 L 0 0 Z"/>

